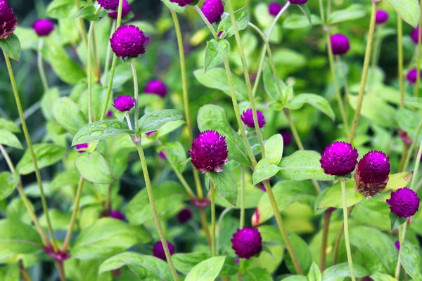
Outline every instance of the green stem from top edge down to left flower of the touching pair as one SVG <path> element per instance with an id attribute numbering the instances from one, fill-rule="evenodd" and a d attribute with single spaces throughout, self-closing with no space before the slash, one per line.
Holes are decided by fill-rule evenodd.
<path id="1" fill-rule="evenodd" d="M 377 5 L 378 4 L 375 1 L 372 1 L 371 23 L 369 25 L 368 41 L 366 44 L 364 70 L 362 71 L 362 79 L 361 79 L 361 84 L 360 84 L 359 97 L 357 100 L 357 108 L 356 108 L 356 112 L 354 112 L 352 129 L 350 131 L 349 138 L 348 138 L 349 143 L 352 143 L 354 134 L 356 133 L 357 124 L 359 123 L 359 117 L 362 110 L 362 103 L 364 101 L 366 79 L 368 78 L 369 62 L 371 61 L 371 48 L 372 48 L 372 41 L 373 41 L 373 33 L 375 31 L 375 17 L 376 17 Z"/>

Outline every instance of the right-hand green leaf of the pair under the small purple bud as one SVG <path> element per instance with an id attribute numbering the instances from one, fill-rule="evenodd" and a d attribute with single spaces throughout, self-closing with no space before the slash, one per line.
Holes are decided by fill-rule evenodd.
<path id="1" fill-rule="evenodd" d="M 164 126 L 167 122 L 183 119 L 179 110 L 157 110 L 143 115 L 139 119 L 139 129 L 141 133 L 155 131 Z"/>

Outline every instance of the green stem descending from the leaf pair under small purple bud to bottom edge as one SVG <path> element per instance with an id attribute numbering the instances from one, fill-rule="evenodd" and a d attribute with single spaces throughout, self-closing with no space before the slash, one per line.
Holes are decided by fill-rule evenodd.
<path id="1" fill-rule="evenodd" d="M 162 230 L 160 217 L 158 216 L 158 212 L 157 212 L 157 207 L 155 207 L 153 188 L 151 186 L 151 181 L 148 174 L 148 166 L 146 165 L 146 158 L 145 158 L 145 154 L 143 153 L 141 143 L 136 144 L 136 149 L 138 150 L 139 159 L 141 160 L 143 178 L 145 179 L 146 192 L 148 193 L 148 199 L 151 205 L 151 211 L 153 212 L 155 226 L 157 227 L 158 235 L 160 236 L 162 247 L 164 248 L 164 251 L 165 251 L 165 257 L 167 259 L 167 263 L 169 264 L 170 271 L 172 272 L 173 279 L 174 281 L 178 281 L 179 277 L 177 276 L 176 270 L 174 269 L 172 256 L 170 255 L 169 247 L 167 246 L 167 240 L 165 239 L 164 230 Z"/>

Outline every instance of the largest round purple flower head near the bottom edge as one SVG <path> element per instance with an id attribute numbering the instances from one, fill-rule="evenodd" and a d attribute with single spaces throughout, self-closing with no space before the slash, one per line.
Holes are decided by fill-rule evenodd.
<path id="1" fill-rule="evenodd" d="M 231 248 L 242 259 L 250 259 L 262 250 L 262 237 L 256 228 L 238 229 L 231 239 Z"/>

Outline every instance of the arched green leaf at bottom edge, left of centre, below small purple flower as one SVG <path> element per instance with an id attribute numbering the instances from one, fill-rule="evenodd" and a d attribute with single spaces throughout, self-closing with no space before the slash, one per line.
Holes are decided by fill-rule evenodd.
<path id="1" fill-rule="evenodd" d="M 136 280 L 172 280 L 168 264 L 155 256 L 126 252 L 112 256 L 101 263 L 98 274 L 127 266 Z"/>

